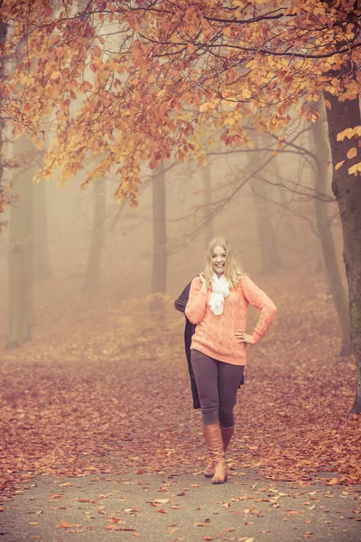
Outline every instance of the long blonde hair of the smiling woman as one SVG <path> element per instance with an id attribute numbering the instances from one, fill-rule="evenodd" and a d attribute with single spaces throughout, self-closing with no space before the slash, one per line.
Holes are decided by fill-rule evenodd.
<path id="1" fill-rule="evenodd" d="M 241 267 L 239 266 L 236 255 L 231 247 L 230 243 L 227 241 L 226 238 L 223 237 L 217 237 L 213 238 L 208 243 L 208 248 L 206 250 L 205 255 L 205 264 L 204 264 L 204 276 L 206 277 L 207 287 L 212 287 L 212 275 L 214 273 L 213 266 L 212 266 L 212 255 L 213 251 L 216 247 L 222 247 L 224 248 L 226 252 L 226 264 L 225 264 L 225 271 L 224 274 L 227 278 L 227 281 L 229 284 L 236 288 L 236 285 L 239 282 L 239 279 L 242 275 L 245 275 L 245 273 L 242 271 Z"/>

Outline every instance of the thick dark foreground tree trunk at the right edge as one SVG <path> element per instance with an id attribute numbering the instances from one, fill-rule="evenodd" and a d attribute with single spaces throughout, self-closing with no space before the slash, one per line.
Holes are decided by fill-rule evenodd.
<path id="1" fill-rule="evenodd" d="M 350 331 L 356 357 L 357 384 L 356 397 L 351 413 L 361 413 L 361 179 L 358 174 L 348 174 L 347 168 L 360 161 L 360 147 L 353 138 L 337 141 L 342 130 L 361 125 L 359 97 L 338 101 L 328 92 L 325 98 L 331 108 L 327 108 L 329 142 L 331 146 L 333 169 L 332 190 L 338 199 L 344 239 L 344 262 L 348 283 Z M 347 160 L 347 151 L 356 147 L 356 157 Z M 346 160 L 338 170 L 335 165 Z"/>

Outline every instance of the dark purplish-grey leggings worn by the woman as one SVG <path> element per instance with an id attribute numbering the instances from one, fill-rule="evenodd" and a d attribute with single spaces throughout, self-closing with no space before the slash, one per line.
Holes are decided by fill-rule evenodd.
<path id="1" fill-rule="evenodd" d="M 196 378 L 203 424 L 235 425 L 233 407 L 236 392 L 243 377 L 244 365 L 231 365 L 209 358 L 199 350 L 190 350 L 190 360 Z"/>

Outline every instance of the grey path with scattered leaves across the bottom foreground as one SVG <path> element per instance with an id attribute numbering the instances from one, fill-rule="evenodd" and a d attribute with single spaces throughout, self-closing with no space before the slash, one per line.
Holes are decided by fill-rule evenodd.
<path id="1" fill-rule="evenodd" d="M 233 470 L 221 486 L 201 474 L 37 476 L 0 514 L 4 542 L 359 542 L 361 485 L 260 479 Z"/>

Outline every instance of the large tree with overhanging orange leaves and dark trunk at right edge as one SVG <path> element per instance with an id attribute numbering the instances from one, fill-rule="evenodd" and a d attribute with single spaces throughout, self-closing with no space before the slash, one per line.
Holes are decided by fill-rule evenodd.
<path id="1" fill-rule="evenodd" d="M 181 162 L 190 154 L 202 163 L 205 129 L 225 145 L 247 145 L 245 117 L 260 131 L 277 134 L 281 151 L 295 107 L 299 117 L 317 120 L 314 104 L 329 95 L 333 187 L 344 229 L 356 341 L 354 411 L 359 412 L 361 285 L 354 210 L 361 203 L 358 198 L 354 206 L 350 194 L 359 196 L 352 175 L 361 173 L 361 160 L 357 141 L 337 141 L 347 129 L 354 129 L 356 140 L 361 135 L 359 3 L 89 0 L 77 7 L 64 0 L 55 14 L 42 0 L 8 0 L 0 15 L 12 27 L 6 51 L 18 60 L 3 81 L 3 118 L 18 132 L 32 132 L 33 142 L 42 146 L 41 121 L 56 111 L 57 137 L 39 178 L 59 167 L 60 181 L 67 182 L 87 154 L 99 154 L 102 160 L 83 184 L 116 164 L 121 179 L 116 196 L 119 201 L 129 197 L 133 205 L 142 164 L 156 168 L 164 159 Z M 113 48 L 115 33 L 120 44 Z M 27 43 L 23 51 L 22 42 Z M 14 99 L 19 84 L 22 97 Z M 79 97 L 82 106 L 70 115 L 70 103 Z"/>

